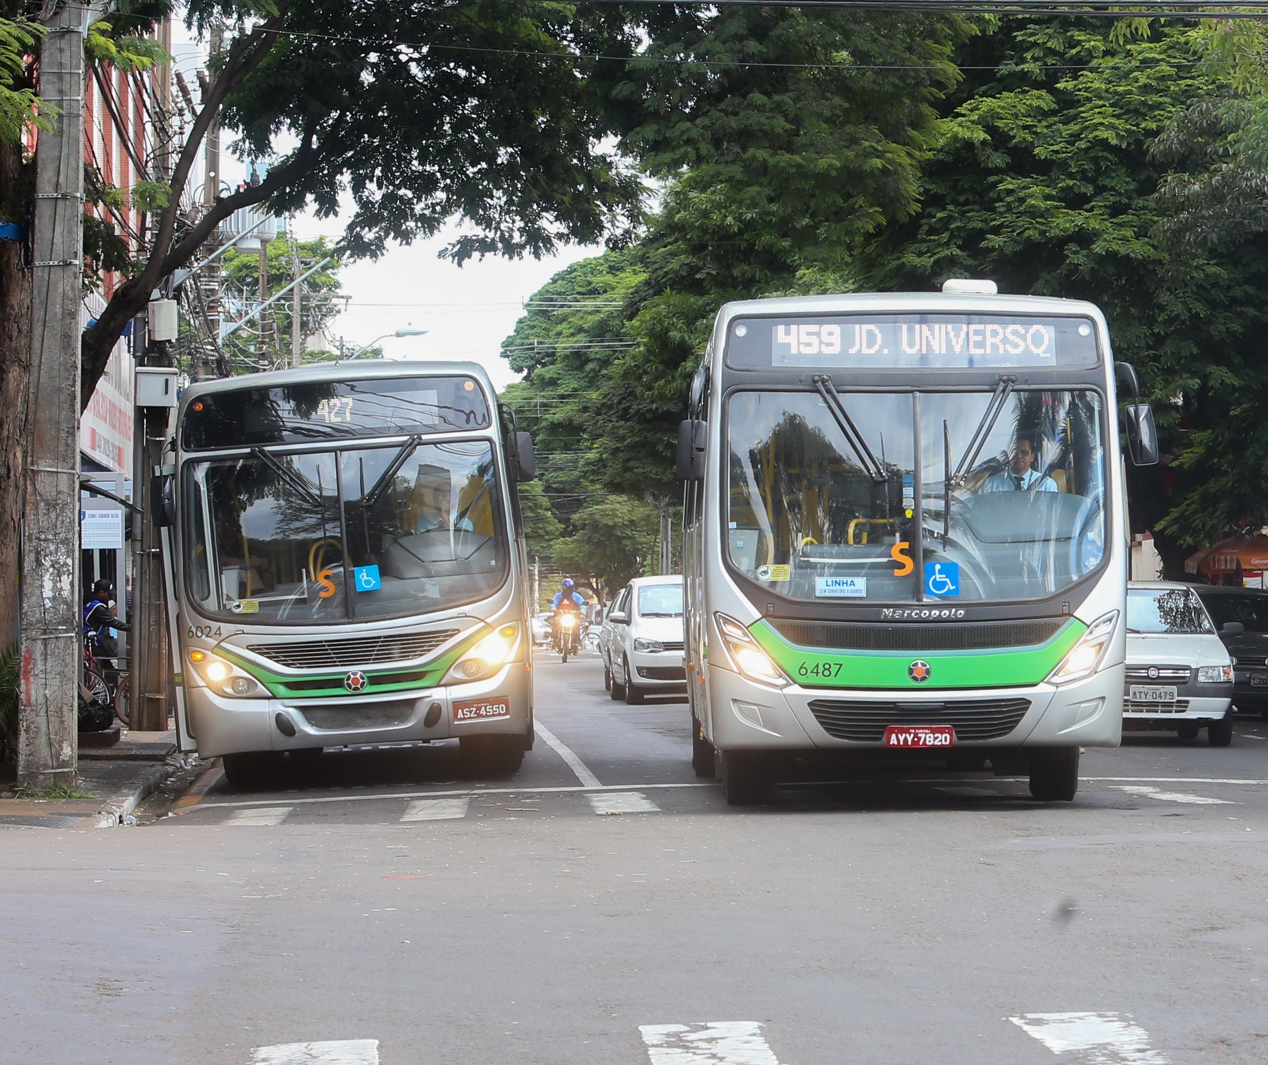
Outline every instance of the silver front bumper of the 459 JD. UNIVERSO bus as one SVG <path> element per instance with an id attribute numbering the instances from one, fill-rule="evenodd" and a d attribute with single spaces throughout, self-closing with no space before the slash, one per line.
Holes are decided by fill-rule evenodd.
<path id="1" fill-rule="evenodd" d="M 708 685 L 710 738 L 721 751 L 881 749 L 886 720 L 898 725 L 959 720 L 956 747 L 1117 747 L 1122 740 L 1122 664 L 1060 687 L 862 692 L 791 685 L 776 690 L 720 667 L 709 669 Z M 973 738 L 983 733 L 989 738 Z"/>

